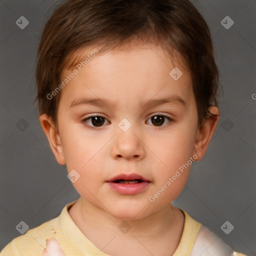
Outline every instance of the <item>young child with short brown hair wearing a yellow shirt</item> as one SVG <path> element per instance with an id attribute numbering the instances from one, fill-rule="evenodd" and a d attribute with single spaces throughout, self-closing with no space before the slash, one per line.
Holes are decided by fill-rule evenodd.
<path id="1" fill-rule="evenodd" d="M 243 255 L 171 204 L 217 125 L 213 54 L 188 0 L 62 3 L 40 40 L 36 99 L 80 197 L 0 255 Z"/>

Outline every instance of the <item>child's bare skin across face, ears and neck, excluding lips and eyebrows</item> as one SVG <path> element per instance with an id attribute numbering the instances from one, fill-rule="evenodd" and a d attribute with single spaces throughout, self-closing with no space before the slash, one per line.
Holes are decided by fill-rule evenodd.
<path id="1" fill-rule="evenodd" d="M 84 55 L 91 52 L 83 51 Z M 183 73 L 178 80 L 169 75 L 175 66 Z M 61 78 L 69 73 L 64 70 Z M 147 104 L 150 99 L 174 94 L 186 105 Z M 69 107 L 83 97 L 105 98 L 116 106 Z M 209 111 L 219 114 L 215 106 Z M 93 128 L 93 118 L 81 122 L 93 113 L 106 118 L 102 126 Z M 172 120 L 164 118 L 157 124 L 150 118 L 155 115 Z M 154 202 L 148 198 L 197 151 L 201 154 L 196 160 L 203 157 L 218 121 L 218 116 L 210 115 L 197 126 L 196 102 L 186 68 L 174 65 L 154 45 L 134 44 L 99 52 L 62 88 L 57 118 L 58 126 L 46 114 L 39 120 L 58 163 L 80 175 L 72 183 L 80 198 L 68 213 L 82 233 L 114 256 L 172 255 L 180 242 L 184 215 L 170 203 L 183 189 L 190 166 Z M 127 131 L 118 126 L 123 118 L 131 124 Z M 137 194 L 118 194 L 106 182 L 117 174 L 133 172 L 151 182 Z M 125 234 L 118 229 L 124 220 L 131 227 Z"/>

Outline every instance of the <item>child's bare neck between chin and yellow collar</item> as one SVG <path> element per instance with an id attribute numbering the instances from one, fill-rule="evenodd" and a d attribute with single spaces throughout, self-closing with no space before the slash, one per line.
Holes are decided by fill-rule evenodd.
<path id="1" fill-rule="evenodd" d="M 172 255 L 170 253 L 177 248 L 184 225 L 183 213 L 171 204 L 146 217 L 124 220 L 80 197 L 68 212 L 84 236 L 111 255 L 149 255 L 148 251 L 157 255 L 160 249 L 163 249 L 163 254 L 159 255 Z M 145 248 L 150 248 L 147 254 L 143 254 Z M 156 254 L 152 252 L 154 250 Z"/>

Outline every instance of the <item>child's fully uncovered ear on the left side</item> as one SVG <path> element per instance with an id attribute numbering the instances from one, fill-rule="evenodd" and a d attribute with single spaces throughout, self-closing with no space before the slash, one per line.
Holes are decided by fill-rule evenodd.
<path id="1" fill-rule="evenodd" d="M 39 121 L 41 123 L 42 129 L 48 138 L 50 148 L 57 160 L 61 165 L 65 164 L 65 158 L 63 154 L 63 147 L 60 141 L 60 137 L 56 128 L 56 125 L 52 121 L 52 118 L 47 114 L 41 114 L 39 116 Z"/>

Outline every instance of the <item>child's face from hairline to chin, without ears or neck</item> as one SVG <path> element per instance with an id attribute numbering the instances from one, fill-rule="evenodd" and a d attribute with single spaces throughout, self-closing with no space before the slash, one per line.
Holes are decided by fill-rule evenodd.
<path id="1" fill-rule="evenodd" d="M 83 200 L 118 218 L 141 218 L 181 192 L 201 154 L 191 77 L 177 66 L 182 75 L 173 79 L 175 66 L 156 46 L 95 55 L 61 90 L 55 156 L 79 177 L 72 184 Z M 110 182 L 120 174 L 144 181 Z"/>

